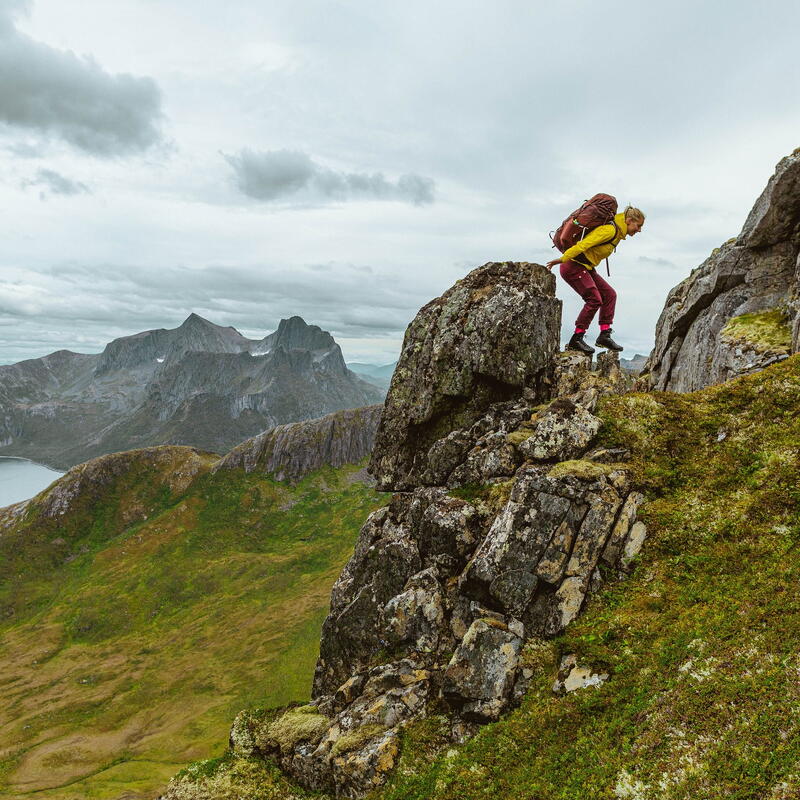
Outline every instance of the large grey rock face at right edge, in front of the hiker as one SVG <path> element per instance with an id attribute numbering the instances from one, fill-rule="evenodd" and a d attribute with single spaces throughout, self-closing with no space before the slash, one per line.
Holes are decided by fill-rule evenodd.
<path id="1" fill-rule="evenodd" d="M 776 311 L 784 346 L 723 335 L 742 315 Z M 693 391 L 800 349 L 800 149 L 782 159 L 738 237 L 667 297 L 645 371 L 654 389 Z M 746 333 L 746 331 L 742 331 Z"/>

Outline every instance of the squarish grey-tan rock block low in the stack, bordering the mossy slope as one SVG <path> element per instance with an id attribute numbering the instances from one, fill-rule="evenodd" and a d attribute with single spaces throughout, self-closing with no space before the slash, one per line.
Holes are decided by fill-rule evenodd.
<path id="1" fill-rule="evenodd" d="M 444 673 L 445 697 L 466 719 L 497 719 L 508 703 L 522 639 L 494 619 L 472 623 Z"/>

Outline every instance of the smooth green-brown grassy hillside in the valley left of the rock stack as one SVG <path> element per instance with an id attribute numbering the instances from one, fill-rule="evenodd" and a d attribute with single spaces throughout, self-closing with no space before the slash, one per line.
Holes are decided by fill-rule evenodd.
<path id="1" fill-rule="evenodd" d="M 358 467 L 290 487 L 188 448 L 107 458 L 125 464 L 69 513 L 43 494 L 0 535 L 3 797 L 150 798 L 222 753 L 242 707 L 306 700 L 330 588 L 380 505 Z"/>

